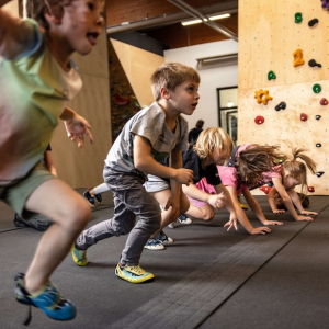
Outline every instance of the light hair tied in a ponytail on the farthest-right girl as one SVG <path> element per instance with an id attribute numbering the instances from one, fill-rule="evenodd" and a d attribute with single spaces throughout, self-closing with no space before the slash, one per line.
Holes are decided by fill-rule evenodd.
<path id="1" fill-rule="evenodd" d="M 311 173 L 316 173 L 317 170 L 317 163 L 310 159 L 308 156 L 306 156 L 305 148 L 293 148 L 292 149 L 292 156 L 283 162 L 283 170 L 284 172 L 288 171 L 288 173 L 300 182 L 302 184 L 302 191 L 305 185 L 307 185 L 307 173 L 306 173 L 306 167 L 310 170 Z M 304 162 L 298 161 L 297 159 L 302 159 Z M 306 164 L 306 166 L 305 166 Z"/>

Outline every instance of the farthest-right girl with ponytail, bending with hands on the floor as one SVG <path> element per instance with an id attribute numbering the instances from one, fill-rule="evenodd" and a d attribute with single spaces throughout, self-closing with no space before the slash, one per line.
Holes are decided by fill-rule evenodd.
<path id="1" fill-rule="evenodd" d="M 308 215 L 318 215 L 316 212 L 305 211 L 303 207 L 304 197 L 302 198 L 295 191 L 297 185 L 302 185 L 302 191 L 304 186 L 307 186 L 307 168 L 313 174 L 316 173 L 317 164 L 305 154 L 303 148 L 294 148 L 292 150 L 292 157 L 285 160 L 282 164 L 277 164 L 272 171 L 263 173 L 263 181 L 265 183 L 272 183 L 273 188 L 268 194 L 269 203 L 271 209 L 274 214 L 283 214 L 284 209 L 279 209 L 279 200 L 275 202 L 275 194 L 277 193 L 281 203 L 284 204 L 285 208 L 292 214 L 295 220 L 314 220 L 313 217 Z M 297 159 L 303 160 L 298 161 Z M 307 167 L 307 168 L 306 168 Z M 295 205 L 295 206 L 294 206 Z M 295 207 L 300 215 L 297 214 Z"/>

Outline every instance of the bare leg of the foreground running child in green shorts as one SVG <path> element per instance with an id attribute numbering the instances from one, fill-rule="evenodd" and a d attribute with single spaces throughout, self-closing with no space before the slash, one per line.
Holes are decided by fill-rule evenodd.
<path id="1" fill-rule="evenodd" d="M 48 180 L 39 185 L 29 197 L 25 207 L 54 222 L 43 235 L 25 275 L 25 288 L 30 294 L 35 294 L 46 285 L 54 270 L 66 258 L 71 245 L 88 224 L 90 207 L 82 196 L 58 179 Z"/>

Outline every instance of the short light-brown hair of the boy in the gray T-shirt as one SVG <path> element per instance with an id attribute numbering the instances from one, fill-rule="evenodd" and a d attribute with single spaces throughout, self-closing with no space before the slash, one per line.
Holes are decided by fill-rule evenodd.
<path id="1" fill-rule="evenodd" d="M 156 101 L 161 99 L 161 88 L 174 90 L 179 84 L 191 80 L 200 83 L 198 73 L 190 66 L 180 63 L 166 63 L 152 73 L 151 89 Z"/>

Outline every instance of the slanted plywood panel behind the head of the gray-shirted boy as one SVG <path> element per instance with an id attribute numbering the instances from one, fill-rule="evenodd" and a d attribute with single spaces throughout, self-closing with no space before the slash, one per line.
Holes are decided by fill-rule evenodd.
<path id="1" fill-rule="evenodd" d="M 164 57 L 111 39 L 120 63 L 141 106 L 154 101 L 150 76 L 164 63 Z"/>

